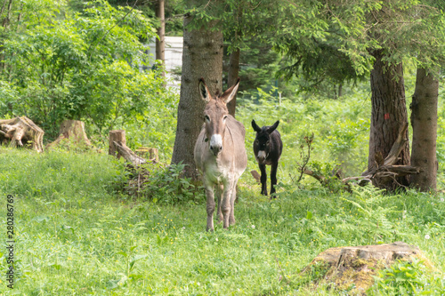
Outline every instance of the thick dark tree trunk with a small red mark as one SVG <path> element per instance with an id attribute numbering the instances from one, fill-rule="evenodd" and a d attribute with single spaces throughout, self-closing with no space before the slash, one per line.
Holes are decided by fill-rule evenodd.
<path id="1" fill-rule="evenodd" d="M 376 165 L 383 164 L 397 140 L 397 136 L 408 123 L 408 112 L 405 100 L 405 85 L 402 64 L 388 65 L 382 60 L 383 52 L 374 52 L 376 61 L 371 71 L 371 127 L 369 133 L 368 171 Z M 408 138 L 408 129 L 406 132 Z M 402 148 L 400 159 L 395 164 L 409 164 L 409 142 Z M 395 189 L 400 185 L 408 186 L 408 176 L 397 180 L 383 180 L 379 187 Z"/>

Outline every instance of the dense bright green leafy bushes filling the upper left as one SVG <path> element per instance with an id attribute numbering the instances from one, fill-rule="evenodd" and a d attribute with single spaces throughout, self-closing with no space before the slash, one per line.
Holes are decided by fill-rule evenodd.
<path id="1" fill-rule="evenodd" d="M 148 117 L 171 113 L 174 99 L 163 78 L 139 70 L 147 61 L 142 41 L 154 36 L 141 12 L 105 1 L 81 12 L 53 1 L 35 4 L 14 6 L 22 20 L 4 28 L 0 117 L 26 115 L 51 139 L 64 119 L 103 134 L 125 124 L 150 129 Z"/>

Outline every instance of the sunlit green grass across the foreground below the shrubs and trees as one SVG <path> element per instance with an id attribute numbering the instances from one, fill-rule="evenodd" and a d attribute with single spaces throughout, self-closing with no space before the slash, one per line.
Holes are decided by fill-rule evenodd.
<path id="1" fill-rule="evenodd" d="M 6 240 L 5 197 L 12 194 L 18 260 L 15 289 L 3 276 L 0 293 L 336 294 L 302 281 L 298 272 L 329 247 L 394 241 L 425 252 L 437 272 L 419 280 L 444 292 L 441 193 L 360 188 L 335 194 L 285 184 L 271 202 L 245 178 L 237 224 L 208 233 L 204 201 L 135 200 L 121 191 L 124 180 L 123 165 L 102 154 L 0 148 L 0 239 Z M 0 252 L 6 270 L 6 251 Z"/>

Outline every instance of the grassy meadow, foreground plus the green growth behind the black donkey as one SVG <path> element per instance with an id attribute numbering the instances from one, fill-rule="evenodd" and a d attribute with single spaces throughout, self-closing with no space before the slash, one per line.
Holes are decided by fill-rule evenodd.
<path id="1" fill-rule="evenodd" d="M 317 270 L 309 276 L 300 271 L 329 247 L 395 241 L 419 246 L 433 269 L 419 263 L 402 280 L 386 273 L 368 293 L 445 294 L 441 163 L 439 190 L 431 194 L 409 189 L 387 195 L 371 187 L 348 193 L 321 188 L 310 177 L 296 183 L 302 139 L 312 132 L 312 167 L 328 171 L 340 164 L 346 175 L 365 168 L 368 93 L 352 97 L 241 102 L 249 163 L 239 182 L 237 224 L 229 231 L 216 224 L 206 232 L 202 190 L 168 170 L 158 168 L 151 189 L 134 196 L 124 189 L 130 177 L 124 164 L 105 153 L 0 148 L 0 239 L 7 240 L 6 196 L 12 195 L 16 260 L 14 289 L 0 276 L 0 294 L 346 295 L 348 290 L 315 284 L 323 276 Z M 249 173 L 257 170 L 253 118 L 260 125 L 280 119 L 285 150 L 273 201 L 260 196 Z M 440 161 L 444 152 L 438 142 Z M 2 248 L 4 271 L 7 255 Z"/>

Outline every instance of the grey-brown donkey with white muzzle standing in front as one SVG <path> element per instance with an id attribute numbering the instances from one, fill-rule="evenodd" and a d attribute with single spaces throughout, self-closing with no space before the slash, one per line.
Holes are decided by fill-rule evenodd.
<path id="1" fill-rule="evenodd" d="M 246 129 L 226 107 L 238 91 L 239 80 L 217 98 L 212 97 L 203 78 L 198 86 L 207 103 L 204 125 L 195 144 L 195 163 L 206 188 L 207 230 L 214 230 L 214 191 L 218 197 L 218 220 L 223 220 L 223 228 L 229 228 L 235 224 L 237 182 L 247 167 Z"/>

